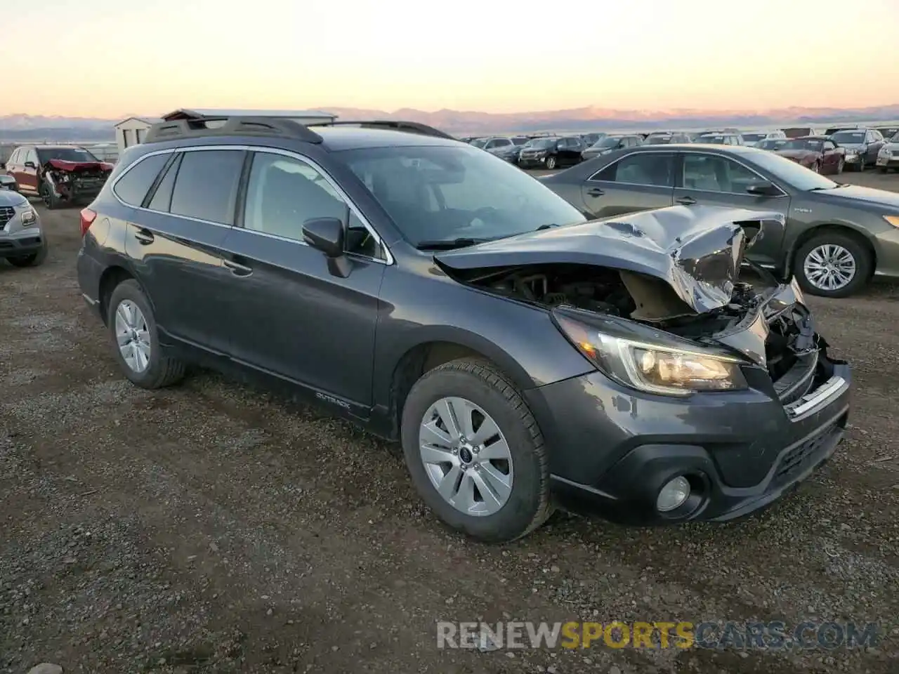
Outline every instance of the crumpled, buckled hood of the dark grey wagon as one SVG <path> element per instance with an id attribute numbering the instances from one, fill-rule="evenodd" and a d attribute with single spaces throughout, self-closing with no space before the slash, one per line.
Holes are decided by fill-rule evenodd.
<path id="1" fill-rule="evenodd" d="M 697 313 L 727 305 L 746 247 L 773 211 L 715 206 L 658 208 L 511 236 L 445 253 L 449 269 L 588 264 L 663 279 Z M 754 225 L 754 233 L 741 226 Z"/>

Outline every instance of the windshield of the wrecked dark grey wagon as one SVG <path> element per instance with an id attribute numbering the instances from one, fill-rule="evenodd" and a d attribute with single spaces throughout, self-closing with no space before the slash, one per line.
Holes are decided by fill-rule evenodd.
<path id="1" fill-rule="evenodd" d="M 585 219 L 528 173 L 466 146 L 369 147 L 342 154 L 416 246 L 497 239 Z"/>

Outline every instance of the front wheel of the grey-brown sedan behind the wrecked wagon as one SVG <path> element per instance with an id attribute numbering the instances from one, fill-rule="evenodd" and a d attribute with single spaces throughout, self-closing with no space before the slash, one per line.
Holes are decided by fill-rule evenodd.
<path id="1" fill-rule="evenodd" d="M 799 248 L 794 272 L 810 295 L 849 297 L 868 283 L 872 263 L 868 248 L 856 237 L 823 232 Z"/>

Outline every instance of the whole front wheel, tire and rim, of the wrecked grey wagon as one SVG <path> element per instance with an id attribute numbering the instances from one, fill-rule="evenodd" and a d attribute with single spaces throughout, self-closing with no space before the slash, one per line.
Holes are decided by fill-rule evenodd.
<path id="1" fill-rule="evenodd" d="M 537 421 L 490 363 L 458 359 L 425 373 L 406 398 L 402 442 L 423 501 L 470 537 L 511 541 L 552 513 Z"/>

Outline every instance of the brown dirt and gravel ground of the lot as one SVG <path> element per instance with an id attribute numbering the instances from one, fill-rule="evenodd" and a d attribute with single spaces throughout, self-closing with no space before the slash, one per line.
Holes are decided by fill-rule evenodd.
<path id="1" fill-rule="evenodd" d="M 668 529 L 560 515 L 488 547 L 423 510 L 396 448 L 323 412 L 207 372 L 129 385 L 76 284 L 77 211 L 41 215 L 48 262 L 0 262 L 0 671 L 895 671 L 899 286 L 813 300 L 855 368 L 852 427 L 773 509 Z M 571 618 L 874 621 L 882 642 L 436 647 L 437 620 Z"/>

